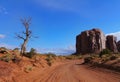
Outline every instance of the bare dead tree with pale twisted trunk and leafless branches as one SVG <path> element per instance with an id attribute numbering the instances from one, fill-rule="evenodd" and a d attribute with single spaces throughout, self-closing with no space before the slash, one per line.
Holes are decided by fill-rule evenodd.
<path id="1" fill-rule="evenodd" d="M 21 34 L 16 34 L 17 38 L 22 39 L 23 43 L 21 45 L 21 56 L 25 55 L 26 52 L 26 46 L 29 41 L 29 39 L 32 36 L 32 31 L 30 30 L 30 24 L 31 24 L 31 18 L 22 18 L 21 22 L 25 28 L 25 31 L 23 31 Z"/>

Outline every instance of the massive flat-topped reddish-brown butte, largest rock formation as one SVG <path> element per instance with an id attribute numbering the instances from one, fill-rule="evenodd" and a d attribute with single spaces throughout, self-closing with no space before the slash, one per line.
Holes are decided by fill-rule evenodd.
<path id="1" fill-rule="evenodd" d="M 76 37 L 76 53 L 99 53 L 105 49 L 105 35 L 99 29 L 83 31 Z"/>

